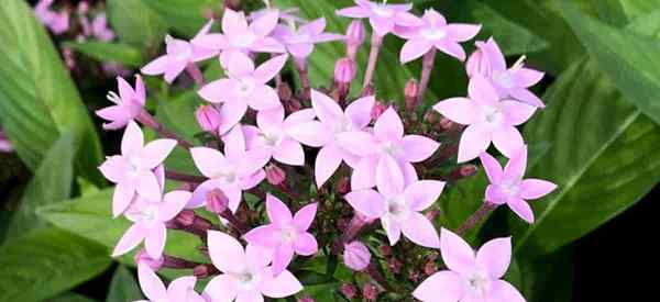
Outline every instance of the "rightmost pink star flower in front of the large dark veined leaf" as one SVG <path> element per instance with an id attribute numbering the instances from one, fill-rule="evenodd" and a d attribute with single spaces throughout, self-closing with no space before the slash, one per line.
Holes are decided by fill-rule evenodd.
<path id="1" fill-rule="evenodd" d="M 512 157 L 504 170 L 490 154 L 483 153 L 480 158 L 491 180 L 485 200 L 495 204 L 506 203 L 522 220 L 534 223 L 534 212 L 526 200 L 542 198 L 557 189 L 557 184 L 535 178 L 522 179 L 527 166 L 527 146 Z"/>

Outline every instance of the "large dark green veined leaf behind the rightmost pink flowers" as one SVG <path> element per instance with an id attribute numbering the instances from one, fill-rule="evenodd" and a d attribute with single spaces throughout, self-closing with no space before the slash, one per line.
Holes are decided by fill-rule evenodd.
<path id="1" fill-rule="evenodd" d="M 525 128 L 551 144 L 528 177 L 559 188 L 532 201 L 536 222 L 514 219 L 516 250 L 547 254 L 585 235 L 641 199 L 660 180 L 660 126 L 641 114 L 593 60 L 569 68 L 548 107 Z"/>

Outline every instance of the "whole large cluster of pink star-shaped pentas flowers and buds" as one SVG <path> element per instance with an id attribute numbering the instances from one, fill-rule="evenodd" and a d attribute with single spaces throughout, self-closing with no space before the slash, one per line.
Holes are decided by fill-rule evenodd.
<path id="1" fill-rule="evenodd" d="M 364 41 L 362 22 L 351 23 L 346 35 L 326 33 L 323 19 L 305 23 L 295 10 L 271 7 L 249 16 L 226 9 L 221 32 L 213 32 L 209 21 L 190 41 L 167 36 L 166 54 L 142 68 L 166 82 L 195 79 L 207 102 L 196 118 L 212 137 L 204 145 L 167 130 L 146 111 L 140 76 L 134 87 L 118 78 L 119 94 L 108 94 L 113 105 L 97 114 L 108 121 L 106 128 L 125 131 L 121 154 L 108 157 L 100 170 L 116 183 L 113 215 L 132 222 L 113 256 L 144 243 L 135 259 L 150 301 L 264 301 L 294 294 L 314 301 L 301 293 L 306 280 L 298 272 L 323 257 L 341 257 L 345 267 L 370 277 L 361 291 L 353 283 L 338 289 L 350 300 L 374 301 L 388 291 L 422 301 L 525 301 L 502 280 L 512 238 L 493 239 L 474 251 L 460 236 L 501 204 L 532 223 L 527 201 L 556 189 L 524 178 L 527 146 L 516 127 L 543 107 L 528 90 L 542 72 L 525 68 L 522 60 L 507 69 L 493 38 L 477 42 L 466 66 L 468 97 L 440 101 L 420 120 L 415 109 L 436 52 L 464 60 L 459 43 L 474 37 L 480 25 L 450 24 L 433 10 L 416 16 L 410 4 L 355 3 L 338 14 L 369 19 L 375 36 L 358 97 L 349 98 L 349 91 Z M 421 85 L 411 80 L 405 88 L 405 110 L 380 101 L 369 77 L 388 33 L 407 40 L 403 64 L 424 57 Z M 307 58 L 315 44 L 331 41 L 345 42 L 346 57 L 338 60 L 329 87 L 311 88 Z M 266 53 L 264 59 L 260 53 Z M 218 59 L 211 64 L 221 65 L 223 78 L 207 82 L 197 66 L 207 59 Z M 289 60 L 300 78 L 297 93 L 282 77 Z M 138 123 L 162 138 L 144 142 Z M 487 153 L 491 143 L 508 158 L 505 168 Z M 167 168 L 175 148 L 189 153 L 198 175 Z M 477 157 L 491 182 L 482 208 L 455 232 L 438 232 L 438 199 L 448 183 L 474 175 L 476 166 L 462 163 Z M 198 236 L 208 261 L 167 255 L 167 230 Z M 447 270 L 438 271 L 436 249 Z M 193 269 L 194 276 L 166 288 L 154 273 L 162 268 Z M 206 288 L 196 291 L 196 280 L 206 278 Z M 392 278 L 409 282 L 391 283 Z"/>

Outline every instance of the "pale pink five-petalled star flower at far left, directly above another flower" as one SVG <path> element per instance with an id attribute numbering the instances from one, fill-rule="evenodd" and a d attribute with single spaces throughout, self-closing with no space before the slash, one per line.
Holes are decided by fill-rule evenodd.
<path id="1" fill-rule="evenodd" d="M 161 200 L 162 186 L 153 170 L 175 146 L 174 139 L 156 139 L 144 145 L 142 130 L 135 122 L 129 122 L 121 141 L 121 155 L 108 157 L 99 167 L 108 180 L 117 183 L 112 197 L 116 217 L 127 210 L 135 193 L 148 200 Z"/>

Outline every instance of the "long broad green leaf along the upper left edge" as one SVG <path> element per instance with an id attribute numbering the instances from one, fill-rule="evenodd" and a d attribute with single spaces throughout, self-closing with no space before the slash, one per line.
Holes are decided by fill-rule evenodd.
<path id="1" fill-rule="evenodd" d="M 0 115 L 21 159 L 35 169 L 59 134 L 73 131 L 84 150 L 77 168 L 101 183 L 102 152 L 87 109 L 25 1 L 0 5 Z"/>

